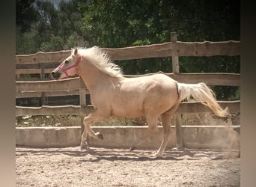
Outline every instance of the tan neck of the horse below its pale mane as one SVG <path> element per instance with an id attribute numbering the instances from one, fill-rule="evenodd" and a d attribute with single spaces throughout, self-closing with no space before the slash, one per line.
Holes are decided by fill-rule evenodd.
<path id="1" fill-rule="evenodd" d="M 87 61 L 79 64 L 79 76 L 85 82 L 85 85 L 90 92 L 96 90 L 100 85 L 106 85 L 112 82 L 113 79 Z"/>

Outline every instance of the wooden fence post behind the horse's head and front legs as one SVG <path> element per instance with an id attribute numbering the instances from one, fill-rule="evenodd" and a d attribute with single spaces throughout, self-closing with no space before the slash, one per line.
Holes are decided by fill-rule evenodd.
<path id="1" fill-rule="evenodd" d="M 77 46 L 78 47 L 84 47 L 84 37 L 78 37 L 77 38 Z M 84 132 L 85 126 L 84 126 L 84 114 L 83 114 L 83 110 L 82 108 L 86 107 L 86 95 L 85 95 L 85 84 L 82 81 L 82 79 L 80 79 L 80 88 L 79 88 L 79 104 L 81 106 L 80 111 L 79 111 L 79 117 L 80 117 L 80 126 L 81 126 L 81 135 L 82 132 Z"/>

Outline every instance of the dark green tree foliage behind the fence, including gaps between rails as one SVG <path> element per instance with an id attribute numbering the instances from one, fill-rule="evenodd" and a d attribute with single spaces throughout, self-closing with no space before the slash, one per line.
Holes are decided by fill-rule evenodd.
<path id="1" fill-rule="evenodd" d="M 16 52 L 56 51 L 76 46 L 83 36 L 87 46 L 126 47 L 178 40 L 240 40 L 238 0 L 71 0 L 58 8 L 49 1 L 18 2 Z M 31 4 L 34 3 L 34 6 Z M 18 13 L 18 15 L 17 15 Z M 29 16 L 30 15 L 30 16 Z M 31 17 L 33 16 L 33 19 Z M 29 25 L 28 22 L 31 24 Z M 180 73 L 240 73 L 240 58 L 180 57 Z M 126 74 L 172 72 L 171 58 L 117 62 Z M 216 87 L 217 98 L 234 98 L 238 88 Z"/>

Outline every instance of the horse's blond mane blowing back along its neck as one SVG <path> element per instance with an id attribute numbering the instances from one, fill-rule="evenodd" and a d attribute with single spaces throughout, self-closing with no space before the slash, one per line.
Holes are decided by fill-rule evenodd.
<path id="1" fill-rule="evenodd" d="M 79 48 L 78 53 L 103 73 L 112 77 L 123 77 L 121 68 L 117 64 L 112 63 L 109 55 L 99 47 L 94 46 L 87 49 Z"/>

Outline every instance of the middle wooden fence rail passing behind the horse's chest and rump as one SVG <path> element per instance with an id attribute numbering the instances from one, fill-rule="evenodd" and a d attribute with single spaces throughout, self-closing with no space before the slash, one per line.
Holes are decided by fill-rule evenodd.
<path id="1" fill-rule="evenodd" d="M 144 76 L 148 76 L 147 74 Z M 165 73 L 165 75 L 177 80 L 177 82 L 198 83 L 204 82 L 207 85 L 229 85 L 240 86 L 240 74 L 236 73 Z M 126 76 L 138 77 L 138 76 Z M 16 92 L 31 91 L 77 91 L 79 88 L 86 88 L 82 79 L 70 78 L 51 81 L 37 82 L 16 82 Z"/>

